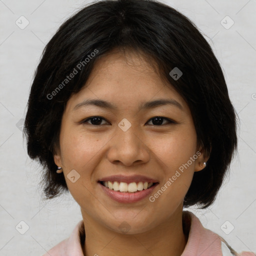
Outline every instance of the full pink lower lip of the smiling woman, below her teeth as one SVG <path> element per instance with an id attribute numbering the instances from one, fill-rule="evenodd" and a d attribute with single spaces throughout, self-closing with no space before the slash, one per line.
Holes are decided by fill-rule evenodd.
<path id="1" fill-rule="evenodd" d="M 152 190 L 157 186 L 158 183 L 155 183 L 154 185 L 150 186 L 147 189 L 143 189 L 141 191 L 137 192 L 120 192 L 120 191 L 114 191 L 112 189 L 109 189 L 105 187 L 104 185 L 99 185 L 102 187 L 103 191 L 112 199 L 116 200 L 117 202 L 122 203 L 132 203 L 137 202 L 145 198 L 147 195 L 149 195 Z"/>

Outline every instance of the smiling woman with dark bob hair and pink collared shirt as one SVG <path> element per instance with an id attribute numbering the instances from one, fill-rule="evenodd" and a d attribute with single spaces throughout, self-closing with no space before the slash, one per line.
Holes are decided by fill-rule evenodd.
<path id="1" fill-rule="evenodd" d="M 175 9 L 103 0 L 66 20 L 37 67 L 24 131 L 46 197 L 70 191 L 81 208 L 45 255 L 238 255 L 183 211 L 213 203 L 237 137 L 221 67 Z"/>

